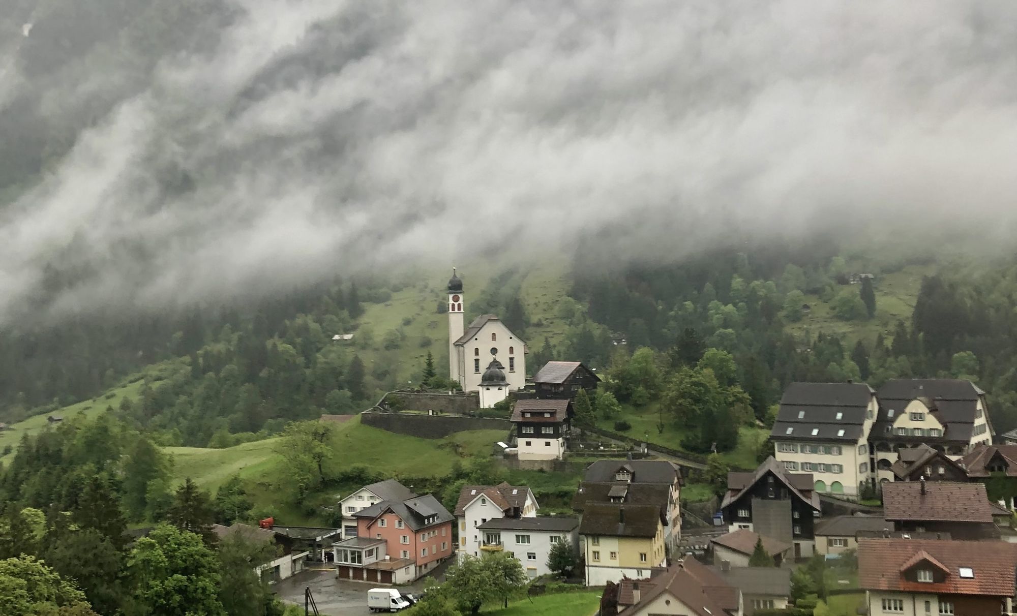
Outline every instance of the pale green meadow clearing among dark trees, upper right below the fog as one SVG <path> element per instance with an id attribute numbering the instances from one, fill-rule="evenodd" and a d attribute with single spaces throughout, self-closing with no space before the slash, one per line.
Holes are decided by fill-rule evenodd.
<path id="1" fill-rule="evenodd" d="M 842 321 L 834 316 L 832 306 L 818 296 L 806 295 L 805 303 L 811 310 L 797 323 L 787 325 L 787 330 L 804 337 L 823 333 L 836 333 L 846 338 L 850 345 L 861 338 L 872 344 L 882 332 L 884 336 L 893 333 L 894 325 L 903 319 L 910 322 L 914 302 L 921 288 L 921 279 L 936 271 L 934 265 L 907 265 L 902 269 L 885 274 L 877 274 L 873 289 L 876 292 L 876 316 L 864 321 Z M 845 287 L 837 287 L 839 293 Z M 848 289 L 856 291 L 857 285 Z"/>

